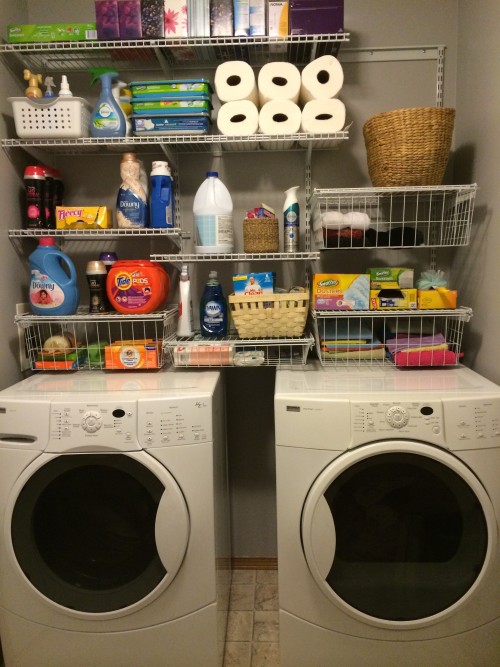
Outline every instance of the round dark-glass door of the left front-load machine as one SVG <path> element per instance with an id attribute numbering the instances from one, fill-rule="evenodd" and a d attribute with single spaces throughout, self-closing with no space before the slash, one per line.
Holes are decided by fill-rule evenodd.
<path id="1" fill-rule="evenodd" d="M 77 612 L 116 612 L 171 582 L 189 517 L 163 466 L 144 453 L 40 459 L 19 480 L 11 539 L 45 598 Z"/>

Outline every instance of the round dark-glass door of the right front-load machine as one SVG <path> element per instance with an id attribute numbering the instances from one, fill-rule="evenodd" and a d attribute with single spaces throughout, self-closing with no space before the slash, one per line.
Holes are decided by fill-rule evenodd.
<path id="1" fill-rule="evenodd" d="M 302 543 L 322 591 L 351 615 L 418 626 L 451 613 L 484 575 L 496 540 L 475 475 L 429 445 L 352 450 L 316 479 Z"/>

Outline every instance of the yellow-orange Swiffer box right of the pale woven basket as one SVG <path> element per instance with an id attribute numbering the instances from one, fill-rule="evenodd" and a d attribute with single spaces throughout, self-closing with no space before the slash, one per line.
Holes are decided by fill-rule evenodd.
<path id="1" fill-rule="evenodd" d="M 369 310 L 370 276 L 366 273 L 315 273 L 312 284 L 316 310 Z"/>

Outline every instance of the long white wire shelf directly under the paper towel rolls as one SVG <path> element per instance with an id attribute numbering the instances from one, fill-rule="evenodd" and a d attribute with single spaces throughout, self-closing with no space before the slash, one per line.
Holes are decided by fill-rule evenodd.
<path id="1" fill-rule="evenodd" d="M 151 137 L 82 137 L 80 139 L 2 139 L 3 148 L 39 148 L 62 155 L 81 155 L 99 153 L 116 155 L 117 152 L 136 150 L 139 152 L 158 152 L 159 144 L 168 145 L 175 153 L 207 152 L 261 152 L 261 151 L 304 151 L 308 146 L 314 149 L 337 148 L 349 139 L 348 131 L 334 134 L 295 134 L 264 135 L 250 134 L 233 137 L 222 134 L 175 134 L 172 136 Z"/>

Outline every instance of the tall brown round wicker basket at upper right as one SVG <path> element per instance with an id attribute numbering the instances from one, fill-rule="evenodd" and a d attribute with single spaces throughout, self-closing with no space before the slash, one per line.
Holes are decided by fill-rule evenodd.
<path id="1" fill-rule="evenodd" d="M 363 126 L 374 187 L 441 185 L 455 109 L 417 107 L 376 114 Z"/>

